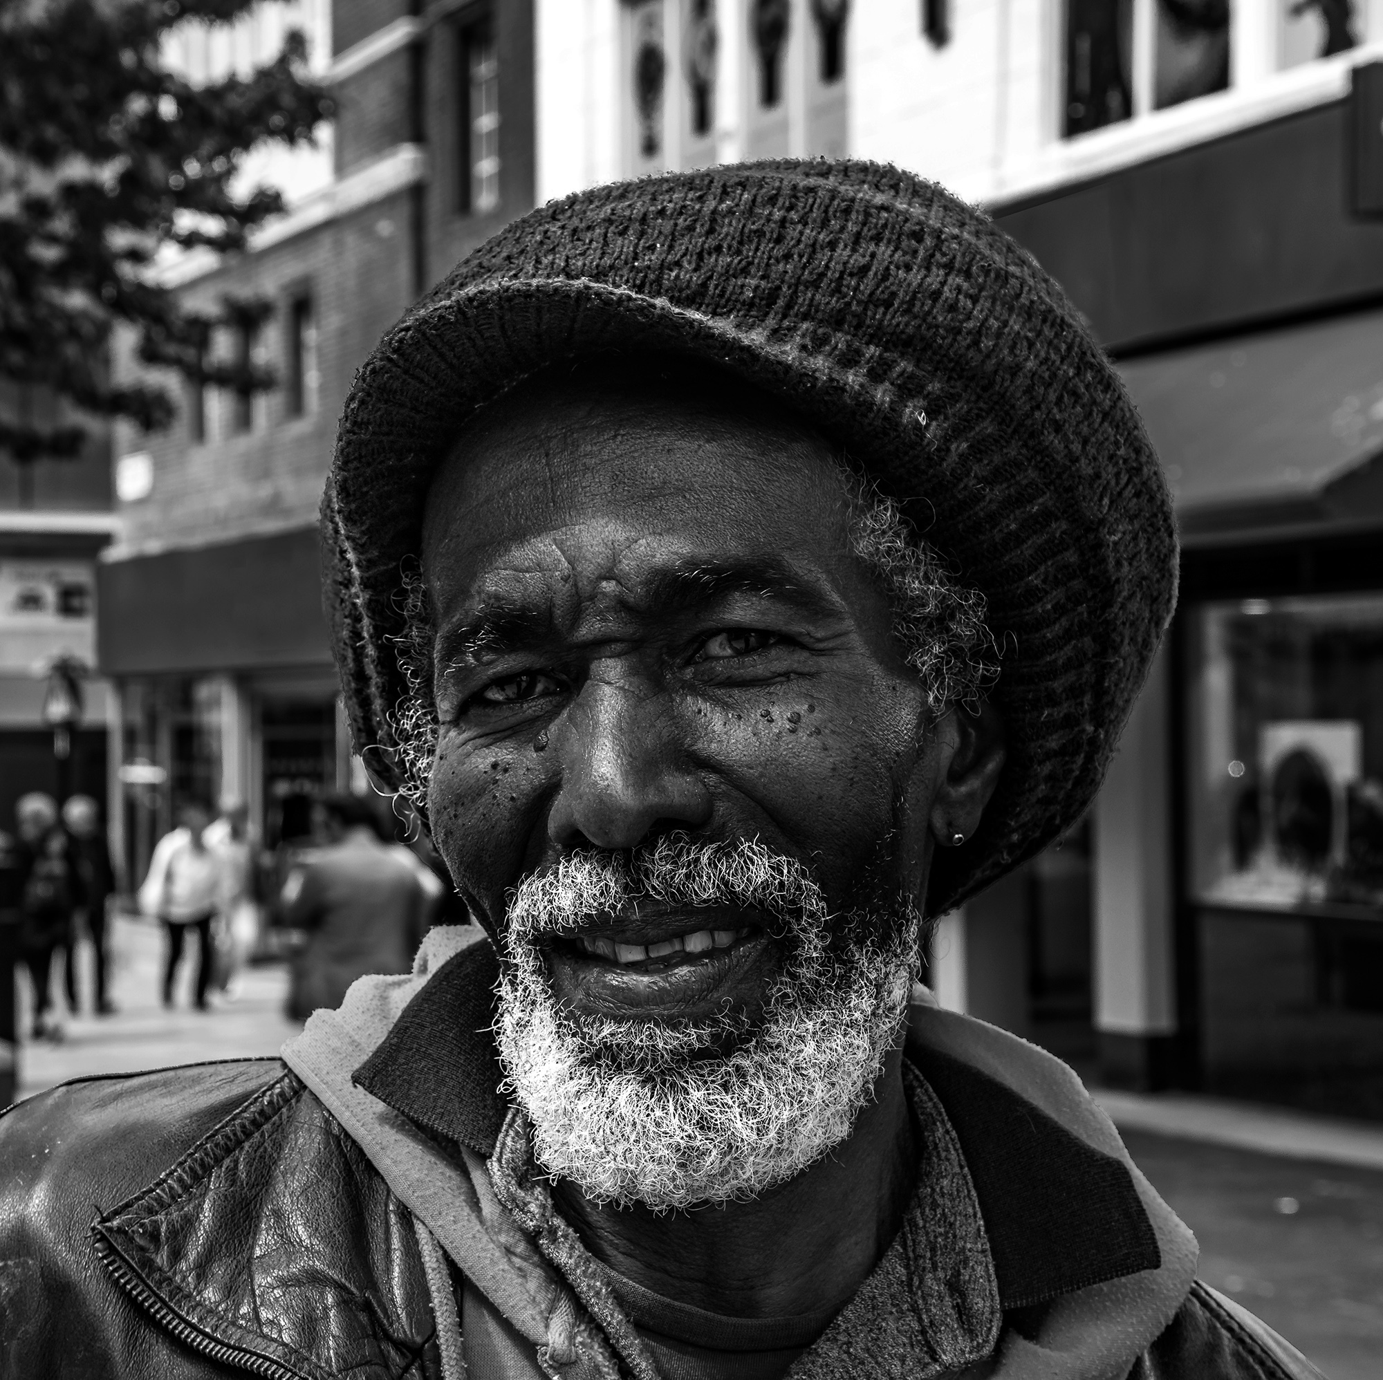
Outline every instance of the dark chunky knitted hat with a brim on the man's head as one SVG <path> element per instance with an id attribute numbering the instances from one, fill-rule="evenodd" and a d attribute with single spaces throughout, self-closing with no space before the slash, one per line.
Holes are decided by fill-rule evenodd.
<path id="1" fill-rule="evenodd" d="M 322 499 L 326 606 L 355 743 L 398 784 L 401 561 L 458 430 L 557 361 L 690 355 L 848 445 L 979 588 L 1004 649 L 1007 763 L 940 849 L 928 910 L 1090 805 L 1176 599 L 1158 459 L 1117 375 L 1034 260 L 893 167 L 784 160 L 578 192 L 510 223 L 355 379 Z"/>

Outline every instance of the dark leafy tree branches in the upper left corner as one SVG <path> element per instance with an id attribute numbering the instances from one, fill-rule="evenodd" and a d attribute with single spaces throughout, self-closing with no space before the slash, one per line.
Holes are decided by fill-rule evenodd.
<path id="1" fill-rule="evenodd" d="M 69 416 L 165 427 L 176 409 L 156 377 L 111 376 L 123 324 L 144 364 L 242 394 L 272 386 L 253 360 L 209 351 L 217 326 L 257 324 L 267 304 L 192 311 L 154 271 L 167 246 L 245 249 L 284 209 L 277 191 L 236 187 L 245 156 L 310 142 L 332 113 L 296 30 L 248 76 L 195 86 L 163 65 L 176 25 L 230 25 L 253 3 L 0 0 L 0 379 L 65 400 Z M 87 430 L 0 415 L 0 448 L 21 465 L 71 456 Z"/>

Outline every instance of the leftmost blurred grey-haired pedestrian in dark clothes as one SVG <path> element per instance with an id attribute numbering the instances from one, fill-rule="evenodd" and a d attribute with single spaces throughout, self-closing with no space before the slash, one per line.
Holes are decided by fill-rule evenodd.
<path id="1" fill-rule="evenodd" d="M 72 943 L 72 913 L 84 900 L 75 848 L 51 795 L 30 791 L 14 808 L 19 834 L 19 951 L 33 982 L 33 1037 L 61 1040 L 53 1014 L 53 955 Z"/>

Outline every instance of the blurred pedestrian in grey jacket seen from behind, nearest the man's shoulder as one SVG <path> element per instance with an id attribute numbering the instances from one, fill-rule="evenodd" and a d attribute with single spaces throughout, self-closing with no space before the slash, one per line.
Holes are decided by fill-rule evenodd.
<path id="1" fill-rule="evenodd" d="M 339 1007 L 365 973 L 408 972 L 426 922 L 414 867 L 383 842 L 368 801 L 326 795 L 313 817 L 326 846 L 284 888 L 285 922 L 307 933 L 288 998 L 297 1020 Z"/>

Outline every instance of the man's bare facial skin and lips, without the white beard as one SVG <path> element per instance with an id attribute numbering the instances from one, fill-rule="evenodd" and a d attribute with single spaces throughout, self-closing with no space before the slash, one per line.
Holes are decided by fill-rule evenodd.
<path id="1" fill-rule="evenodd" d="M 758 841 L 833 911 L 921 897 L 925 697 L 848 552 L 824 441 L 700 397 L 530 394 L 434 483 L 423 574 L 433 831 L 491 932 L 523 878 L 669 831 Z M 752 1022 L 774 928 L 646 904 L 553 939 L 548 978 L 575 1015 Z"/>

